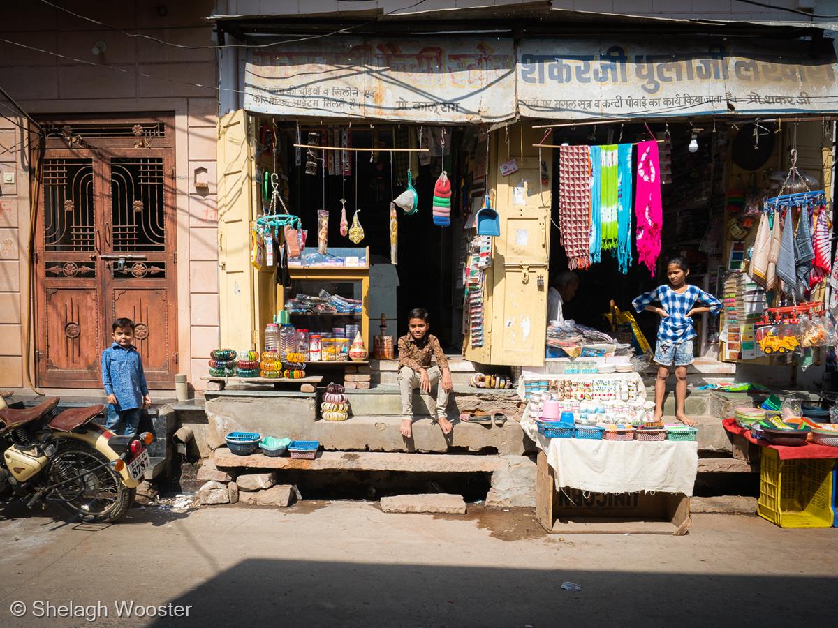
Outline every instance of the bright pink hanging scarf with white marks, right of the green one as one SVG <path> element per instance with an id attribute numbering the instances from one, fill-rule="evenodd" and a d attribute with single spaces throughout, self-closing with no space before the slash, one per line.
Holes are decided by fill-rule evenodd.
<path id="1" fill-rule="evenodd" d="M 663 227 L 663 208 L 660 201 L 660 162 L 658 142 L 639 142 L 637 145 L 637 193 L 634 200 L 637 219 L 637 254 L 640 264 L 654 277 L 660 255 L 660 229 Z"/>

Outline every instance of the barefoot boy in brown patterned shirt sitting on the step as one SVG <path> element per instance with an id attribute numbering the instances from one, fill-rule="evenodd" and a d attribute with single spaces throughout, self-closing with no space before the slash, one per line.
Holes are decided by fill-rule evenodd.
<path id="1" fill-rule="evenodd" d="M 413 391 L 416 388 L 430 394 L 437 385 L 436 406 L 433 410 L 442 434 L 453 430 L 447 420 L 446 407 L 448 393 L 451 392 L 451 371 L 448 360 L 436 336 L 428 333 L 427 311 L 421 307 L 411 310 L 408 315 L 409 332 L 399 338 L 399 388 L 401 389 L 401 434 L 410 438 L 413 424 Z M 431 355 L 437 358 L 436 366 L 431 365 Z"/>

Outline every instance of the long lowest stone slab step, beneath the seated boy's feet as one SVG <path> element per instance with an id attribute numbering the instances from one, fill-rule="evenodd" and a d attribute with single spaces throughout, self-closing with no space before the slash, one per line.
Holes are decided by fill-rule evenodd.
<path id="1" fill-rule="evenodd" d="M 416 473 L 492 473 L 508 465 L 501 456 L 467 454 L 394 454 L 370 451 L 321 451 L 314 460 L 295 460 L 287 456 L 262 454 L 235 456 L 222 447 L 215 450 L 217 466 L 251 469 L 298 469 L 306 471 L 397 471 Z M 240 493 L 241 496 L 244 492 Z"/>

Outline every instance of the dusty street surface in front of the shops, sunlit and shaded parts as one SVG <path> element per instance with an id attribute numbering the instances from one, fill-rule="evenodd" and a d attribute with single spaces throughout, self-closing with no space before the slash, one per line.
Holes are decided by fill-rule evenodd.
<path id="1" fill-rule="evenodd" d="M 111 526 L 3 514 L 9 626 L 826 625 L 838 590 L 838 530 L 758 517 L 695 515 L 676 538 L 547 535 L 527 510 L 368 502 L 135 508 Z M 168 616 L 178 607 L 189 616 Z"/>

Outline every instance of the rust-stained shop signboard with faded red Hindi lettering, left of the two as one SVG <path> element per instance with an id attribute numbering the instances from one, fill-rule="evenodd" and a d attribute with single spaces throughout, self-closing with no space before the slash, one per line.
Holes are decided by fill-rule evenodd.
<path id="1" fill-rule="evenodd" d="M 251 49 L 245 109 L 413 122 L 515 116 L 511 39 L 340 37 Z"/>

